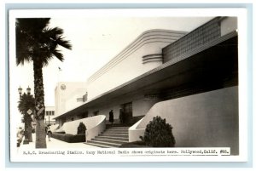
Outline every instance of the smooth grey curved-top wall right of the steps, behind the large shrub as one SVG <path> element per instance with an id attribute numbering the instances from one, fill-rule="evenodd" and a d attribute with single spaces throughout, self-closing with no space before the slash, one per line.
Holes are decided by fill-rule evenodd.
<path id="1" fill-rule="evenodd" d="M 239 154 L 237 86 L 159 102 L 132 128 L 143 135 L 155 116 L 172 125 L 176 147 L 230 147 Z"/>

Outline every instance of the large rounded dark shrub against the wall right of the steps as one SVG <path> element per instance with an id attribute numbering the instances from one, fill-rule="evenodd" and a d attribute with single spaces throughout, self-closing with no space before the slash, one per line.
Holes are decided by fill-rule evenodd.
<path id="1" fill-rule="evenodd" d="M 148 146 L 173 147 L 175 139 L 172 134 L 172 126 L 166 123 L 166 119 L 157 116 L 150 121 L 145 129 L 144 136 L 140 138 Z"/>

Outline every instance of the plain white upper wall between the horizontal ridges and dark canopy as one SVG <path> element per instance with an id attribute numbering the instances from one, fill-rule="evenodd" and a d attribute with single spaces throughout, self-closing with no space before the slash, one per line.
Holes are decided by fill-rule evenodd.
<path id="1" fill-rule="evenodd" d="M 160 66 L 162 63 L 146 63 L 143 64 L 143 55 L 145 54 L 159 54 L 156 51 L 162 43 L 148 43 L 143 47 L 137 49 L 129 57 L 121 60 L 117 65 L 105 71 L 101 77 L 97 77 L 93 82 L 88 83 L 88 99 L 92 99 L 97 95 L 103 94 L 119 85 L 126 83 L 135 77 L 142 75 L 143 73 Z M 163 46 L 163 45 L 162 45 Z M 102 86 L 104 85 L 104 86 Z"/>

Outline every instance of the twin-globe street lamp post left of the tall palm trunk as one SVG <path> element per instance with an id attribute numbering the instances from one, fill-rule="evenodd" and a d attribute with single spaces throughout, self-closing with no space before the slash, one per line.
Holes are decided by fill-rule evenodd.
<path id="1" fill-rule="evenodd" d="M 26 100 L 28 100 L 27 98 L 33 98 L 33 97 L 30 97 L 31 96 L 31 88 L 28 86 L 26 88 L 26 93 L 22 94 L 22 88 L 19 87 L 18 88 L 18 93 L 20 94 L 20 103 L 21 103 L 21 100 L 23 100 L 23 103 L 27 106 L 28 102 Z M 23 140 L 23 144 L 28 144 L 29 142 L 32 142 L 32 136 L 31 134 L 29 134 L 28 132 L 32 132 L 32 128 L 30 127 L 30 124 L 28 124 L 28 117 L 31 117 L 32 115 L 32 110 L 31 109 L 24 109 L 26 111 L 22 111 L 22 113 L 24 114 L 24 122 L 25 122 L 25 131 L 24 131 L 24 134 L 25 134 L 25 139 Z M 28 114 L 28 116 L 27 116 Z"/>

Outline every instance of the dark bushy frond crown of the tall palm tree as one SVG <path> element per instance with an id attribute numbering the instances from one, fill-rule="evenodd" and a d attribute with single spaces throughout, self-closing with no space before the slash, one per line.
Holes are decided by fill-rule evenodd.
<path id="1" fill-rule="evenodd" d="M 72 44 L 62 37 L 64 31 L 59 27 L 49 28 L 49 18 L 16 20 L 16 63 L 39 61 L 47 66 L 56 57 L 63 61 L 60 46 L 72 49 Z"/>

